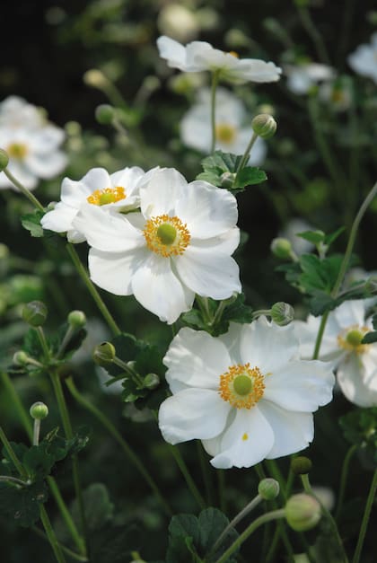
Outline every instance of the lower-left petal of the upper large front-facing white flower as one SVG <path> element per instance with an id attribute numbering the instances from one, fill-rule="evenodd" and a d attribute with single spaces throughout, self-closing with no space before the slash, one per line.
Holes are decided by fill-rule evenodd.
<path id="1" fill-rule="evenodd" d="M 145 249 L 119 253 L 91 249 L 88 256 L 91 279 L 96 286 L 111 294 L 131 295 L 132 277 L 146 259 Z"/>

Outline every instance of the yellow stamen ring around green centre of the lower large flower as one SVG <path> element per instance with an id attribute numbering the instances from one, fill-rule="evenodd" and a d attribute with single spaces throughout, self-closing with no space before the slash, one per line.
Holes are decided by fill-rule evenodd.
<path id="1" fill-rule="evenodd" d="M 247 393 L 237 392 L 234 382 L 237 378 L 249 377 L 250 389 Z M 238 380 L 240 381 L 240 379 Z M 245 389 L 245 385 L 241 386 Z M 236 364 L 231 365 L 225 374 L 220 375 L 219 393 L 222 399 L 231 403 L 232 407 L 236 409 L 251 409 L 263 397 L 265 391 L 264 377 L 261 374 L 259 367 L 250 368 L 250 364 Z M 243 390 L 242 390 L 243 391 Z M 246 435 L 246 437 L 244 437 Z M 242 440 L 247 440 L 248 435 L 244 434 Z"/>

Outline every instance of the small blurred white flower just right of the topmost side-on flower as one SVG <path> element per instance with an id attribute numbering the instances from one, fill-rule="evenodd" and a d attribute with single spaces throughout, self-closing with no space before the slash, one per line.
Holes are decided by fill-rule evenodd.
<path id="1" fill-rule="evenodd" d="M 306 94 L 312 86 L 333 80 L 336 72 L 331 66 L 320 65 L 320 63 L 306 63 L 303 65 L 285 66 L 287 77 L 286 87 L 295 94 Z"/>

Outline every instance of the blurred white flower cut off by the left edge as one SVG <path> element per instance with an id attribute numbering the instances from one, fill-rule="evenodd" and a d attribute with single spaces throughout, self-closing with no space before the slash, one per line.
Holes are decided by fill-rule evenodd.
<path id="1" fill-rule="evenodd" d="M 39 179 L 49 179 L 62 172 L 66 154 L 59 150 L 64 131 L 48 123 L 42 111 L 17 96 L 0 103 L 0 147 L 9 156 L 9 172 L 27 189 L 34 189 Z M 0 172 L 0 189 L 13 188 Z"/>

